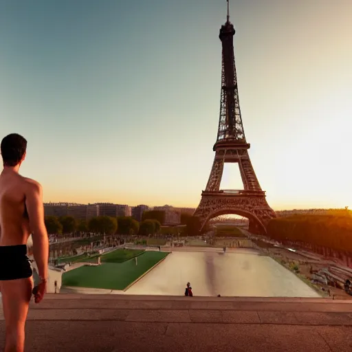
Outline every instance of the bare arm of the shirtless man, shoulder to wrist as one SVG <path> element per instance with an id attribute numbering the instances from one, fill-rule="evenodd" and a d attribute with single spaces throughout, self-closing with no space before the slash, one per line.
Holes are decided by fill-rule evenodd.
<path id="1" fill-rule="evenodd" d="M 49 240 L 44 223 L 43 190 L 37 182 L 29 182 L 25 192 L 25 205 L 30 218 L 33 239 L 33 255 L 41 278 L 47 279 L 49 261 Z"/>

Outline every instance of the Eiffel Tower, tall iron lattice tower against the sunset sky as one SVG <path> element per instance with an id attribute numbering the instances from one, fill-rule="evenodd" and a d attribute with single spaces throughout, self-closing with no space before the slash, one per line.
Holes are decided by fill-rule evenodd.
<path id="1" fill-rule="evenodd" d="M 227 21 L 221 26 L 219 39 L 222 43 L 221 100 L 219 129 L 212 170 L 201 193 L 201 201 L 194 216 L 201 222 L 201 231 L 213 217 L 223 214 L 238 214 L 249 219 L 249 230 L 265 234 L 267 221 L 276 217 L 265 199 L 254 168 L 250 161 L 245 140 L 239 92 L 237 87 L 236 66 L 234 63 L 234 26 L 230 22 L 229 2 Z M 243 190 L 220 190 L 224 163 L 237 163 L 243 181 Z"/>

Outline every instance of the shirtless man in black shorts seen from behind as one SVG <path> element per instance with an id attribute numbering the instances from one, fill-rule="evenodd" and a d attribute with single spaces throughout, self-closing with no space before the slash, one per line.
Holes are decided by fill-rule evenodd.
<path id="1" fill-rule="evenodd" d="M 41 185 L 19 175 L 26 148 L 27 141 L 16 133 L 1 141 L 0 289 L 5 317 L 5 352 L 24 350 L 25 320 L 33 289 L 26 247 L 31 233 L 34 260 L 41 278 L 36 287 L 36 303 L 43 299 L 48 274 L 49 241 Z"/>

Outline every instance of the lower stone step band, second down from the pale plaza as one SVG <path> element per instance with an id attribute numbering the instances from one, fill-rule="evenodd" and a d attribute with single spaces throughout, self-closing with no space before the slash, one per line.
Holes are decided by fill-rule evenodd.
<path id="1" fill-rule="evenodd" d="M 304 311 L 234 311 L 219 309 L 30 309 L 28 320 L 214 323 L 254 325 L 342 325 L 352 327 L 351 313 Z"/>

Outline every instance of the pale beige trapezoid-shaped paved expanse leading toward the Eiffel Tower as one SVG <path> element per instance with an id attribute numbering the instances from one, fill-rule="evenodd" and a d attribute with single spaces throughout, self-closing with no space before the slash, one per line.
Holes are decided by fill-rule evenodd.
<path id="1" fill-rule="evenodd" d="M 172 252 L 126 293 L 177 296 L 190 282 L 195 296 L 320 297 L 270 256 L 251 250 L 206 250 Z"/>

